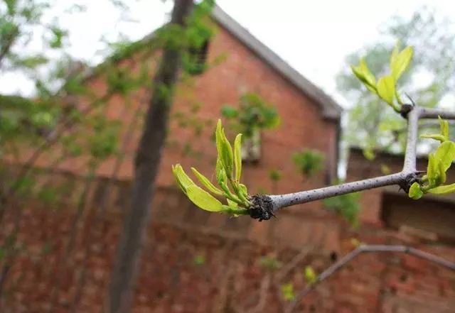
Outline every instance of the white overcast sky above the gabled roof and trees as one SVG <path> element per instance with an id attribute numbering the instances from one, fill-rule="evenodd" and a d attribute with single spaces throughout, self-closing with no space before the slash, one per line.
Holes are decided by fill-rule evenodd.
<path id="1" fill-rule="evenodd" d="M 70 30 L 70 53 L 92 62 L 102 60 L 100 37 L 119 32 L 133 40 L 142 38 L 166 21 L 172 1 L 132 1 L 132 21 L 119 23 L 121 12 L 109 0 L 82 0 L 85 13 L 63 15 L 68 1 L 53 14 Z M 450 0 L 218 0 L 218 5 L 259 40 L 338 101 L 335 75 L 346 67 L 344 58 L 378 38 L 381 25 L 393 15 L 411 16 L 420 6 L 455 14 Z M 59 11 L 60 10 L 60 11 Z M 50 16 L 52 18 L 53 16 Z M 63 18 L 64 17 L 64 18 Z M 452 16 L 453 18 L 454 16 Z M 25 91 L 26 82 L 0 77 L 4 92 Z M 17 78 L 17 77 L 16 77 Z"/>

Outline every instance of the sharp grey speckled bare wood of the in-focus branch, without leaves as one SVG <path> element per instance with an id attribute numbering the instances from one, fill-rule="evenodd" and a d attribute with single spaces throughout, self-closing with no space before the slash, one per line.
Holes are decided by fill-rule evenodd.
<path id="1" fill-rule="evenodd" d="M 419 171 L 416 169 L 416 150 L 417 150 L 417 133 L 419 128 L 419 119 L 437 119 L 441 116 L 443 119 L 455 119 L 455 112 L 441 111 L 436 109 L 424 109 L 419 106 L 413 106 L 407 113 L 407 145 L 405 162 L 401 172 L 392 175 L 385 175 L 368 180 L 358 180 L 356 182 L 347 182 L 341 185 L 323 187 L 315 190 L 305 190 L 290 194 L 269 195 L 271 200 L 272 213 L 284 207 L 295 204 L 303 204 L 328 197 L 335 197 L 341 194 L 359 192 L 378 187 L 399 185 L 407 192 L 412 182 L 417 180 Z"/>

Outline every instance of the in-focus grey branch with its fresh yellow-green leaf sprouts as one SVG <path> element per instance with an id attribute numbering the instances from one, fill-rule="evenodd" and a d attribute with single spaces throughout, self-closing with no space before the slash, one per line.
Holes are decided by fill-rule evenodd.
<path id="1" fill-rule="evenodd" d="M 173 173 L 176 176 L 178 185 L 188 198 L 201 209 L 209 212 L 233 214 L 235 216 L 250 215 L 254 219 L 259 219 L 259 221 L 270 219 L 279 209 L 291 205 L 389 185 L 400 186 L 412 199 L 419 199 L 427 192 L 434 194 L 455 192 L 455 184 L 443 185 L 446 181 L 446 170 L 449 169 L 455 159 L 455 143 L 449 141 L 449 124 L 444 119 L 455 119 L 455 112 L 424 109 L 414 104 L 412 99 L 412 104 L 407 104 L 402 100 L 397 90 L 397 81 L 410 64 L 412 53 L 411 47 L 400 51 L 397 46 L 390 57 L 390 74 L 381 77 L 378 82 L 376 82 L 375 76 L 368 69 L 365 60 L 360 60 L 360 65 L 352 67 L 354 75 L 358 77 L 365 87 L 377 94 L 380 99 L 385 101 L 404 119 L 407 119 L 407 146 L 401 172 L 289 194 L 249 195 L 247 194 L 247 187 L 240 183 L 242 169 L 240 157 L 241 136 L 237 136 L 232 149 L 221 126 L 221 121 L 218 121 L 215 131 L 218 150 L 215 172 L 220 189 L 193 168 L 192 170 L 198 180 L 208 190 L 206 192 L 186 175 L 181 165 L 175 165 Z M 419 119 L 439 119 L 441 126 L 441 133 L 424 136 L 424 138 L 432 138 L 441 142 L 437 151 L 429 154 L 427 171 L 417 170 L 416 168 Z M 209 192 L 217 196 L 224 196 L 227 199 L 227 205 L 222 204 Z"/>

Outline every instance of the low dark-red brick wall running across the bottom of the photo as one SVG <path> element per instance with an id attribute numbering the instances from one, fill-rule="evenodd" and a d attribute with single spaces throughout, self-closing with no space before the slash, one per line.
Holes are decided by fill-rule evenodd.
<path id="1" fill-rule="evenodd" d="M 1 312 L 101 312 L 112 258 L 127 204 L 127 182 L 109 191 L 94 182 L 91 205 L 9 209 L 1 234 L 9 234 L 22 207 L 21 246 L 2 298 Z M 77 185 L 77 184 L 76 184 Z M 178 190 L 159 189 L 144 244 L 134 312 L 282 312 L 281 286 L 305 287 L 303 269 L 320 272 L 353 249 L 353 237 L 367 243 L 405 243 L 455 260 L 451 246 L 424 245 L 377 224 L 357 231 L 319 207 L 280 212 L 277 219 L 252 221 L 208 214 Z M 272 271 L 263 257 L 278 260 Z M 360 256 L 307 296 L 296 312 L 455 312 L 455 273 L 411 256 Z"/>

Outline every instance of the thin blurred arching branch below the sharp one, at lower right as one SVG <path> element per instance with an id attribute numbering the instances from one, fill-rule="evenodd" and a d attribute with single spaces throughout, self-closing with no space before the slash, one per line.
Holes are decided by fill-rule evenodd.
<path id="1" fill-rule="evenodd" d="M 299 295 L 296 296 L 293 302 L 289 304 L 289 306 L 286 309 L 286 313 L 291 313 L 294 311 L 296 308 L 297 304 L 301 302 L 301 300 L 308 295 L 316 285 L 318 285 L 320 282 L 323 280 L 326 280 L 329 278 L 331 275 L 335 274 L 343 268 L 344 265 L 348 264 L 353 258 L 356 256 L 360 255 L 361 253 L 382 253 L 382 252 L 396 252 L 396 253 L 407 253 L 410 254 L 411 256 L 415 256 L 416 258 L 422 258 L 424 260 L 429 261 L 430 263 L 435 263 L 437 265 L 440 265 L 444 268 L 447 268 L 449 270 L 455 270 L 455 262 L 446 260 L 445 258 L 441 258 L 439 256 L 435 256 L 432 253 L 428 253 L 416 248 L 408 247 L 408 246 L 401 246 L 401 245 L 395 245 L 395 246 L 390 246 L 390 245 L 364 245 L 364 246 L 359 246 L 358 248 L 355 248 L 355 250 L 350 251 L 350 253 L 346 254 L 346 256 L 343 256 L 340 260 L 336 261 L 336 263 L 333 263 L 330 267 L 328 267 L 326 270 L 324 270 L 317 278 L 316 282 L 314 282 L 312 285 L 309 285 L 306 287 L 306 289 L 302 290 Z"/>

